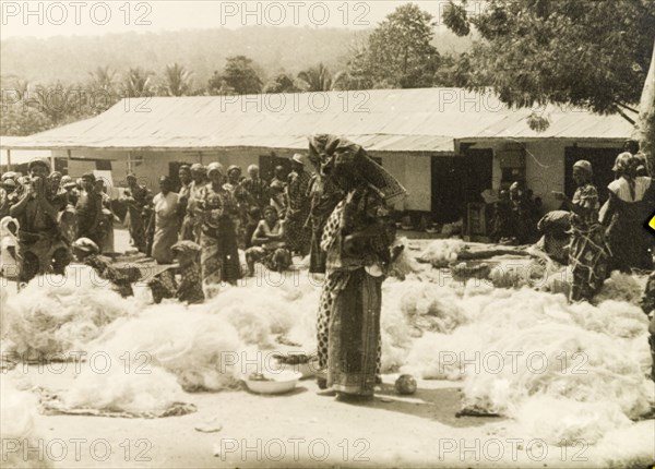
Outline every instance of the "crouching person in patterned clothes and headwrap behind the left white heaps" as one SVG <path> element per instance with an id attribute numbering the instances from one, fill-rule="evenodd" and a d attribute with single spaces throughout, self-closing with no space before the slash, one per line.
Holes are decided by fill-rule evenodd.
<path id="1" fill-rule="evenodd" d="M 201 248 L 193 241 L 183 240 L 175 243 L 170 251 L 176 264 L 155 275 L 148 281 L 153 301 L 160 303 L 164 298 L 175 298 L 188 304 L 202 303 L 202 270 L 200 266 Z M 179 280 L 177 275 L 179 275 Z"/>

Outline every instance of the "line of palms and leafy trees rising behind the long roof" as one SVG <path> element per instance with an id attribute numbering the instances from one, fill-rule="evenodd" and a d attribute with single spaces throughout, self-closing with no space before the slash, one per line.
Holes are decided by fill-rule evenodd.
<path id="1" fill-rule="evenodd" d="M 473 47 L 440 53 L 433 45 L 437 21 L 469 37 Z M 432 86 L 492 88 L 510 106 L 543 110 L 555 103 L 633 121 L 654 43 L 652 0 L 488 0 L 475 15 L 468 14 L 466 0 L 451 0 L 441 19 L 407 3 L 368 36 L 353 40 L 340 70 L 317 60 L 299 73 L 281 70 L 266 76 L 253 59 L 236 55 L 209 80 L 196 80 L 177 62 L 156 73 L 99 67 L 72 84 L 3 77 L 3 92 L 15 93 L 2 93 L 0 134 L 28 135 L 61 125 L 97 115 L 123 97 Z M 535 113 L 528 124 L 546 129 L 548 116 Z"/>

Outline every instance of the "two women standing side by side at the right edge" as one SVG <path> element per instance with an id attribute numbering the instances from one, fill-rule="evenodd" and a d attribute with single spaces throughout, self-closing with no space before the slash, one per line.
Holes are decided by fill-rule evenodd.
<path id="1" fill-rule="evenodd" d="M 627 147 L 626 149 L 630 149 Z M 655 207 L 655 183 L 638 148 L 618 155 L 609 199 L 600 207 L 587 160 L 573 165 L 577 189 L 572 199 L 556 192 L 571 212 L 569 264 L 573 279 L 571 300 L 590 300 L 612 270 L 653 268 L 653 237 L 644 227 Z"/>

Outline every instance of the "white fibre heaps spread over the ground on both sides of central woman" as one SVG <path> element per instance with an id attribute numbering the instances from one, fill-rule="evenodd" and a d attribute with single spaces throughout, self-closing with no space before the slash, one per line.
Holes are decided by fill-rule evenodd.
<path id="1" fill-rule="evenodd" d="M 424 255 L 450 260 L 461 249 L 462 242 L 446 240 Z M 383 284 L 384 372 L 461 380 L 467 408 L 511 417 L 553 444 L 628 432 L 653 406 L 647 320 L 634 304 L 641 291 L 632 278 L 612 276 L 599 297 L 623 301 L 571 305 L 563 294 L 475 279 L 463 285 L 429 266 L 419 275 L 415 268 L 404 281 Z M 71 407 L 156 413 L 180 399 L 181 388 L 236 388 L 253 351 L 315 350 L 322 277 L 306 270 L 222 287 L 192 306 L 145 306 L 87 277 L 34 280 L 7 299 L 8 338 L 16 351 L 83 350 L 115 363 L 111 373 L 79 375 L 61 396 Z M 121 370 L 126 358 L 134 372 Z"/>

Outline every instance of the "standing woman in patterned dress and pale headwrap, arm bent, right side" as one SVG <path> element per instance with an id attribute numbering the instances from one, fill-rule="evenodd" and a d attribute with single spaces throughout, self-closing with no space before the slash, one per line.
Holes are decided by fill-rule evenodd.
<path id="1" fill-rule="evenodd" d="M 573 270 L 571 301 L 591 300 L 607 278 L 609 249 L 605 229 L 598 221 L 598 191 L 592 180 L 592 164 L 584 159 L 573 165 L 573 180 L 577 184 L 573 200 L 553 192 L 571 211 L 571 246 L 569 265 Z"/>

